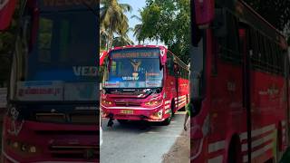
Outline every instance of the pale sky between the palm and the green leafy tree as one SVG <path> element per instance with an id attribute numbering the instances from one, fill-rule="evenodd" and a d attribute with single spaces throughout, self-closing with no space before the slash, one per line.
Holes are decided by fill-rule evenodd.
<path id="1" fill-rule="evenodd" d="M 131 13 L 127 13 L 127 17 L 129 19 L 129 26 L 131 28 L 134 28 L 136 24 L 140 24 L 140 21 L 138 21 L 136 18 L 131 18 L 132 15 L 137 15 L 140 16 L 140 13 L 138 12 L 139 9 L 142 9 L 146 5 L 146 0 L 119 0 L 119 3 L 121 4 L 129 4 L 133 8 Z M 135 39 L 133 36 L 133 32 L 130 32 L 129 37 L 131 40 L 135 43 L 138 44 L 138 41 Z M 158 44 L 158 45 L 164 45 L 164 43 L 157 43 L 157 42 L 150 42 L 150 41 L 145 41 L 145 44 Z"/>

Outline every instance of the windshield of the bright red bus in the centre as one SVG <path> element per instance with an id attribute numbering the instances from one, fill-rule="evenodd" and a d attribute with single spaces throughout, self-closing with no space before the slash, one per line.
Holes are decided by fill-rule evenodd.
<path id="1" fill-rule="evenodd" d="M 163 68 L 159 49 L 131 49 L 112 52 L 104 75 L 105 88 L 158 88 Z"/>

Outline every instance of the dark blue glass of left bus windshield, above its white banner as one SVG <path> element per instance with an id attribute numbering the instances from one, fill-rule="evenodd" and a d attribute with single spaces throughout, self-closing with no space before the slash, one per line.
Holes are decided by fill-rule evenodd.
<path id="1" fill-rule="evenodd" d="M 94 81 L 96 18 L 90 11 L 43 13 L 27 81 Z M 37 67 L 37 69 L 35 69 Z"/>

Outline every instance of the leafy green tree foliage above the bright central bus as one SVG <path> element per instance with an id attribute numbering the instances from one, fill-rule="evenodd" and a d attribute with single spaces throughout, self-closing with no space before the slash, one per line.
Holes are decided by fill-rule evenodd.
<path id="1" fill-rule="evenodd" d="M 141 24 L 135 26 L 140 41 L 161 41 L 184 62 L 189 60 L 189 0 L 147 0 L 140 10 Z"/>

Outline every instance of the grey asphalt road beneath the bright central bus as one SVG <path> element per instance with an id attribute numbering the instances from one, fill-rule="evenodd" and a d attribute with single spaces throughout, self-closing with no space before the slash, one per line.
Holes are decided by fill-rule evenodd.
<path id="1" fill-rule="evenodd" d="M 159 123 L 129 122 L 121 125 L 114 120 L 102 120 L 102 163 L 161 163 L 162 156 L 179 137 L 183 129 L 185 112 L 175 115 L 169 126 Z M 140 127 L 145 125 L 145 129 Z"/>

